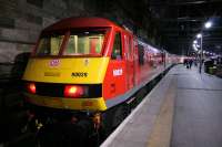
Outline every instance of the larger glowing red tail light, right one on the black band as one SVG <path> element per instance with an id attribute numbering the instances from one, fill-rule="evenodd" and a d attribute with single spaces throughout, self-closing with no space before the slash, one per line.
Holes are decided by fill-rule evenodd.
<path id="1" fill-rule="evenodd" d="M 84 95 L 84 88 L 78 85 L 65 85 L 64 97 L 78 98 Z"/>

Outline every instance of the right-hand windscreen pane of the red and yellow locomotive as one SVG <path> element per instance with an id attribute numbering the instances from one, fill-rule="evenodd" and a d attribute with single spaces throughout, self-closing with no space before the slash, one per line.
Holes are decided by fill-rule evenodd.
<path id="1" fill-rule="evenodd" d="M 104 31 L 72 31 L 63 55 L 101 54 Z"/>

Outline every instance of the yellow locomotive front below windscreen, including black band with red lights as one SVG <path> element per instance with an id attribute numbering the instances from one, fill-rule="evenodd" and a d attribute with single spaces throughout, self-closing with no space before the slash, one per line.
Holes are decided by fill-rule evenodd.
<path id="1" fill-rule="evenodd" d="M 107 57 L 31 59 L 23 76 L 26 99 L 53 108 L 104 111 L 107 64 Z"/>

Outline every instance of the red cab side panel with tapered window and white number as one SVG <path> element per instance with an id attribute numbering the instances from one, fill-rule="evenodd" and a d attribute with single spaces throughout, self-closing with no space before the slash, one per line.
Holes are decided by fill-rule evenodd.
<path id="1" fill-rule="evenodd" d="M 111 46 L 110 62 L 108 65 L 104 83 L 103 96 L 112 99 L 127 91 L 125 83 L 125 60 L 121 31 L 115 31 L 113 44 Z"/>

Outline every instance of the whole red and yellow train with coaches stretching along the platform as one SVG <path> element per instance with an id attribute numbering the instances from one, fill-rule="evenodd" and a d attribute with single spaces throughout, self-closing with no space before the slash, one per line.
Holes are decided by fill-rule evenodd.
<path id="1" fill-rule="evenodd" d="M 22 77 L 29 117 L 39 129 L 115 127 L 150 78 L 176 62 L 107 19 L 61 20 L 41 32 Z"/>

